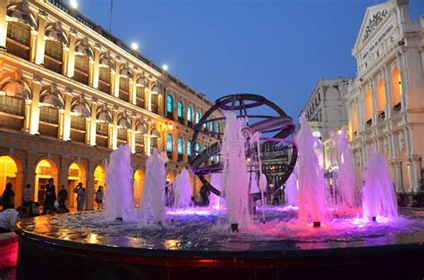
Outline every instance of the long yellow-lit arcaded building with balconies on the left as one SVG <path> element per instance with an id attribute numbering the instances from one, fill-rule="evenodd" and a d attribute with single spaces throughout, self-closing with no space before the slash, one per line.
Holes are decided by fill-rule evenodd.
<path id="1" fill-rule="evenodd" d="M 53 177 L 71 194 L 82 182 L 92 209 L 106 159 L 121 144 L 132 152 L 136 193 L 154 148 L 168 153 L 174 180 L 191 146 L 200 151 L 222 129 L 209 122 L 208 135 L 191 143 L 192 127 L 210 105 L 62 1 L 0 0 L 0 193 L 12 182 L 16 206 L 23 185 L 40 202 Z"/>

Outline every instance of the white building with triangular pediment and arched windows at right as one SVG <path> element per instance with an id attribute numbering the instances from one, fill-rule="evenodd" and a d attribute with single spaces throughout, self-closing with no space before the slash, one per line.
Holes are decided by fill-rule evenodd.
<path id="1" fill-rule="evenodd" d="M 370 6 L 352 55 L 358 73 L 347 107 L 358 175 L 373 146 L 386 155 L 397 192 L 416 193 L 424 155 L 424 17 L 411 19 L 408 0 Z"/>

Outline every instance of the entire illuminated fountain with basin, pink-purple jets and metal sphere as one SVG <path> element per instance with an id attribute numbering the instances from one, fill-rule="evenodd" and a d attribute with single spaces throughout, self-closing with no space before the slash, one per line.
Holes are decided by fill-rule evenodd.
<path id="1" fill-rule="evenodd" d="M 276 115 L 249 112 L 263 104 Z M 202 127 L 214 120 L 210 116 L 216 110 L 225 113 L 224 139 L 204 151 L 192 151 L 196 156 L 190 164 L 193 174 L 216 197 L 209 207 L 180 203 L 188 193 L 188 173 L 183 170 L 176 186 L 183 186 L 183 191 L 177 191 L 182 207 L 165 208 L 167 158 L 155 150 L 147 161 L 140 209 L 131 211 L 132 202 L 125 202 L 131 197 L 131 159 L 128 147 L 121 146 L 111 153 L 106 197 L 114 197 L 120 186 L 123 192 L 115 194 L 118 202 L 107 204 L 105 212 L 18 222 L 18 279 L 32 279 L 34 271 L 39 279 L 52 275 L 64 279 L 357 279 L 364 277 L 364 271 L 367 278 L 422 277 L 424 211 L 397 213 L 384 157 L 369 152 L 361 204 L 348 199 L 357 185 L 343 183 L 341 192 L 344 187 L 354 188 L 343 194 L 343 204 L 363 214 L 335 217 L 333 205 L 326 203 L 322 145 L 304 116 L 295 143 L 293 121 L 276 104 L 258 95 L 229 95 L 218 99 L 200 119 L 192 143 L 199 134 L 210 133 Z M 347 142 L 336 141 L 343 165 L 349 158 Z M 220 161 L 209 163 L 212 156 Z M 268 171 L 270 162 L 278 162 L 278 177 Z M 289 202 L 299 209 L 265 205 L 264 199 L 275 192 L 266 185 L 283 185 L 291 174 Z"/>

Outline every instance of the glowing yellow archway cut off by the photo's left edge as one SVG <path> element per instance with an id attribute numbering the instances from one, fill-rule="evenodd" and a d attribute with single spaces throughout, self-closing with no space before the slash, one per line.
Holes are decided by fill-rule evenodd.
<path id="1" fill-rule="evenodd" d="M 0 195 L 3 194 L 7 183 L 13 185 L 14 206 L 21 205 L 22 192 L 22 168 L 21 162 L 12 156 L 0 156 Z"/>

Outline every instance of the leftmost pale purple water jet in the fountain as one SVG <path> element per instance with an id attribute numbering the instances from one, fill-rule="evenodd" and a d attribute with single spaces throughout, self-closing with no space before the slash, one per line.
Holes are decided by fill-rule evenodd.
<path id="1" fill-rule="evenodd" d="M 131 152 L 128 144 L 111 152 L 106 165 L 105 217 L 128 218 L 134 209 Z"/>

